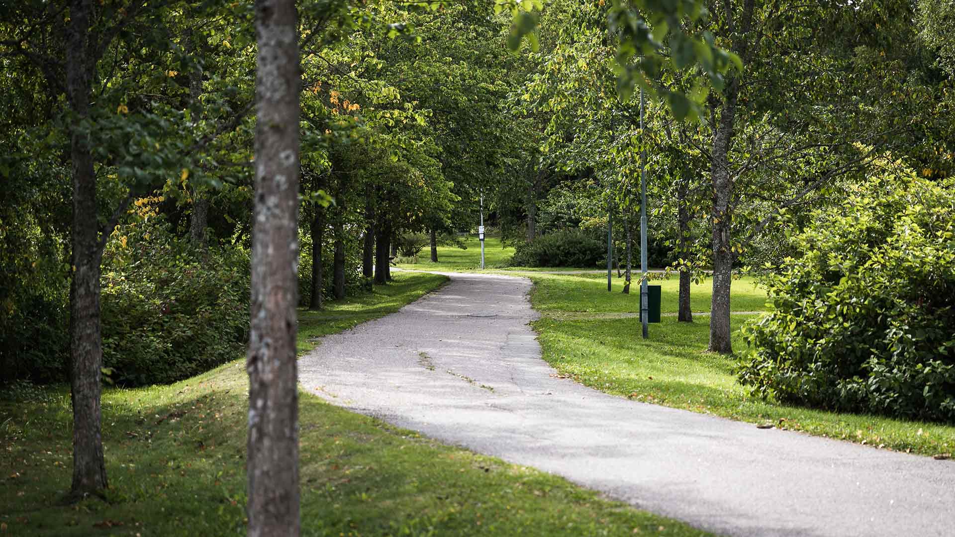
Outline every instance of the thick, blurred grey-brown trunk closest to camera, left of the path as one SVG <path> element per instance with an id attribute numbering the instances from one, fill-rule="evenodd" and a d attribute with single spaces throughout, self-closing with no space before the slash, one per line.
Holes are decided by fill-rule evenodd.
<path id="1" fill-rule="evenodd" d="M 246 369 L 248 535 L 298 535 L 299 53 L 294 0 L 257 0 L 255 215 Z"/>

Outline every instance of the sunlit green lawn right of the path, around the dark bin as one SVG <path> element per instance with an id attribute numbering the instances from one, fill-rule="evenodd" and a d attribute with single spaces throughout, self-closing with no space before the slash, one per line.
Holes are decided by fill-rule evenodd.
<path id="1" fill-rule="evenodd" d="M 732 356 L 706 353 L 709 317 L 680 323 L 665 316 L 641 337 L 636 318 L 607 318 L 569 312 L 639 310 L 639 292 L 606 291 L 606 280 L 579 275 L 531 275 L 531 302 L 543 316 L 534 322 L 543 357 L 562 374 L 587 386 L 637 400 L 709 413 L 876 447 L 937 455 L 955 451 L 955 427 L 937 423 L 838 414 L 786 406 L 749 397 L 732 374 Z M 591 281 L 592 280 L 592 281 Z M 663 286 L 662 310 L 676 311 L 677 280 Z M 709 281 L 708 281 L 709 283 Z M 732 283 L 732 311 L 762 311 L 766 297 L 752 279 Z M 709 311 L 710 288 L 694 286 L 693 311 Z M 733 314 L 734 333 L 752 314 Z M 738 333 L 733 349 L 745 348 Z"/>

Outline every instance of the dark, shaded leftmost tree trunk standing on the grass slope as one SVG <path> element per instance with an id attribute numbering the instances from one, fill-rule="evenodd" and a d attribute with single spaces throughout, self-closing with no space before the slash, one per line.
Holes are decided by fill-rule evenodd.
<path id="1" fill-rule="evenodd" d="M 88 33 L 90 0 L 70 5 L 67 34 L 67 97 L 79 121 L 89 117 L 91 99 Z M 99 406 L 103 348 L 99 319 L 99 261 L 96 171 L 88 133 L 74 129 L 70 137 L 73 164 L 73 280 L 70 284 L 71 397 L 73 400 L 73 484 L 75 498 L 106 488 L 102 414 Z"/>

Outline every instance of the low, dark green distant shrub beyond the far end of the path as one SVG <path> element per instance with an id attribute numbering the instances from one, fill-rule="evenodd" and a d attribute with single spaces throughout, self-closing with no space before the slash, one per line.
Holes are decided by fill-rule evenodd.
<path id="1" fill-rule="evenodd" d="M 566 229 L 521 243 L 512 267 L 595 267 L 606 260 L 606 246 L 581 229 Z"/>

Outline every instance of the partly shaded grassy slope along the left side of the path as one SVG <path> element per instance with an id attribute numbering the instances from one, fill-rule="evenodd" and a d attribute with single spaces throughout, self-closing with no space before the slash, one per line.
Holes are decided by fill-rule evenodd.
<path id="1" fill-rule="evenodd" d="M 443 282 L 303 312 L 300 348 Z M 169 385 L 103 394 L 110 502 L 56 506 L 70 483 L 67 389 L 0 398 L 0 535 L 244 534 L 247 377 L 237 360 Z M 304 535 L 699 535 L 539 471 L 442 445 L 302 394 Z"/>

